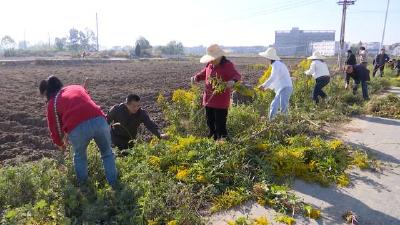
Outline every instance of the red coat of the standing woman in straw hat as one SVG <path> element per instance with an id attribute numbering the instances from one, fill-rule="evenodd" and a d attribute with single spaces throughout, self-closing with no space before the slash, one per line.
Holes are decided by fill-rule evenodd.
<path id="1" fill-rule="evenodd" d="M 227 109 L 230 105 L 232 90 L 227 88 L 224 93 L 213 95 L 214 90 L 209 80 L 211 77 L 216 76 L 225 82 L 231 80 L 239 81 L 241 76 L 235 69 L 233 63 L 230 61 L 226 61 L 218 66 L 208 63 L 207 66 L 195 76 L 197 82 L 202 80 L 205 80 L 206 82 L 203 94 L 203 106 L 217 109 Z"/>

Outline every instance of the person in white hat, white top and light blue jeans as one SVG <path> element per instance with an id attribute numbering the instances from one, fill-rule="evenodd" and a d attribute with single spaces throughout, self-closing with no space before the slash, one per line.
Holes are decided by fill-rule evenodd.
<path id="1" fill-rule="evenodd" d="M 286 65 L 280 61 L 275 48 L 268 48 L 265 52 L 261 52 L 260 56 L 267 58 L 272 66 L 269 79 L 259 87 L 261 90 L 272 89 L 275 91 L 275 98 L 269 110 L 269 119 L 272 120 L 277 115 L 279 109 L 283 114 L 288 114 L 293 84 L 289 70 Z"/>

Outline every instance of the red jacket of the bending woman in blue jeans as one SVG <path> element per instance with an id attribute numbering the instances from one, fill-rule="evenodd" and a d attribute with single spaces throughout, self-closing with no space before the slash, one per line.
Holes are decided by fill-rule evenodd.
<path id="1" fill-rule="evenodd" d="M 54 99 L 55 97 L 52 97 L 47 103 L 47 124 L 53 142 L 58 146 L 63 146 L 57 130 Z M 70 85 L 61 89 L 57 99 L 57 112 L 64 133 L 71 132 L 80 123 L 89 119 L 99 116 L 105 117 L 100 107 L 90 98 L 85 88 L 80 85 Z"/>

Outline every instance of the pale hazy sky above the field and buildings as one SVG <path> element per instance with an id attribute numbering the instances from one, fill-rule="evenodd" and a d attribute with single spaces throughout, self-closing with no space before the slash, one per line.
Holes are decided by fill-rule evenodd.
<path id="1" fill-rule="evenodd" d="M 275 30 L 336 30 L 337 0 L 8 0 L 1 2 L 0 37 L 54 42 L 70 28 L 96 29 L 100 46 L 152 45 L 171 40 L 185 46 L 267 46 Z M 387 0 L 357 0 L 349 6 L 346 41 L 381 41 Z M 384 44 L 400 42 L 400 0 L 391 0 Z"/>

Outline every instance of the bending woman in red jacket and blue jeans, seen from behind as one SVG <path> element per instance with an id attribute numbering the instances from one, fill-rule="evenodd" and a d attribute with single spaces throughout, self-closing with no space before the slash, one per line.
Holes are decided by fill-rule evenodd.
<path id="1" fill-rule="evenodd" d="M 42 80 L 40 94 L 47 98 L 47 123 L 53 142 L 65 150 L 68 140 L 74 151 L 74 167 L 80 183 L 88 179 L 87 146 L 94 139 L 101 152 L 107 181 L 114 186 L 117 169 L 111 148 L 110 127 L 100 107 L 81 85 L 63 87 L 61 81 L 50 76 Z"/>

